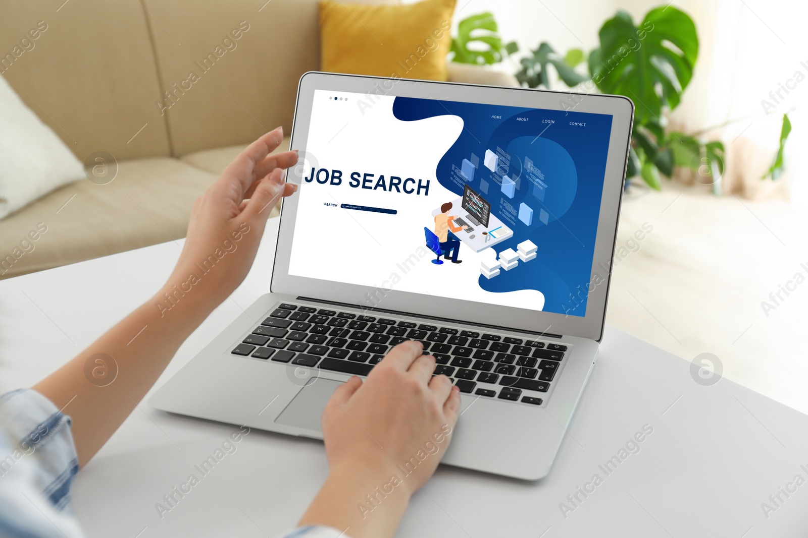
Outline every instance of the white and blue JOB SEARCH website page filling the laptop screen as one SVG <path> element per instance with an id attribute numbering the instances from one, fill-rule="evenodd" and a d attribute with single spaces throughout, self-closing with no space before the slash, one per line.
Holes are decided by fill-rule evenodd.
<path id="1" fill-rule="evenodd" d="M 378 307 L 397 290 L 583 316 L 611 129 L 315 90 L 289 273 L 371 286 Z"/>

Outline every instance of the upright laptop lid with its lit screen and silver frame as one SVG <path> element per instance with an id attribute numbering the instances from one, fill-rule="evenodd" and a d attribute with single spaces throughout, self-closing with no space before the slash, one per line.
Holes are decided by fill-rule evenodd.
<path id="1" fill-rule="evenodd" d="M 305 73 L 271 290 L 600 340 L 632 121 L 619 96 Z"/>

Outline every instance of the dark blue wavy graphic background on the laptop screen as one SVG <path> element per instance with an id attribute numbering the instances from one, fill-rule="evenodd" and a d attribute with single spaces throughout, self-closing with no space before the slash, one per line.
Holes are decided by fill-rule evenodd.
<path id="1" fill-rule="evenodd" d="M 612 116 L 406 97 L 395 98 L 393 115 L 402 121 L 440 115 L 463 119 L 461 135 L 437 165 L 438 181 L 458 196 L 463 194 L 463 183 L 468 183 L 490 202 L 491 213 L 514 231 L 511 239 L 496 244 L 497 252 L 516 251 L 516 245 L 528 239 L 537 245 L 535 260 L 520 261 L 516 269 L 491 279 L 481 275 L 480 287 L 493 292 L 539 290 L 545 296 L 545 311 L 585 315 Z M 492 115 L 502 119 L 491 119 Z M 586 126 L 573 127 L 570 122 Z M 497 147 L 511 158 L 507 176 L 520 181 L 513 198 L 501 192 L 497 174 L 483 164 L 486 149 L 497 152 Z M 459 169 L 472 154 L 479 164 L 473 180 L 463 181 Z M 528 177 L 536 175 L 524 169 L 525 157 L 544 174 L 544 200 L 534 194 Z M 487 194 L 481 181 L 488 183 Z M 516 211 L 526 203 L 533 210 L 532 223 L 517 219 L 503 202 Z M 548 215 L 547 224 L 539 218 L 541 210 Z"/>

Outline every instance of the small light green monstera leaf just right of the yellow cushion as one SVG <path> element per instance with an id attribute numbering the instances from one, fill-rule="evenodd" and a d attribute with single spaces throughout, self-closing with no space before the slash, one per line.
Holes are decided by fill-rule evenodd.
<path id="1" fill-rule="evenodd" d="M 513 54 L 519 48 L 511 42 L 503 45 L 494 15 L 486 12 L 472 15 L 457 24 L 457 37 L 452 39 L 452 61 L 459 64 L 496 64 L 504 54 Z M 472 48 L 469 48 L 472 44 Z"/>

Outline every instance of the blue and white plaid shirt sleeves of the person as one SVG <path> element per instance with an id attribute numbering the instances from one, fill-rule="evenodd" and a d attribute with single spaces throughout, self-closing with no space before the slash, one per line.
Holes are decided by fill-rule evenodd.
<path id="1" fill-rule="evenodd" d="M 78 457 L 70 418 L 34 390 L 0 396 L 0 538 L 83 538 L 70 503 Z M 283 538 L 348 538 L 304 527 Z"/>

